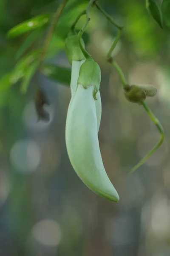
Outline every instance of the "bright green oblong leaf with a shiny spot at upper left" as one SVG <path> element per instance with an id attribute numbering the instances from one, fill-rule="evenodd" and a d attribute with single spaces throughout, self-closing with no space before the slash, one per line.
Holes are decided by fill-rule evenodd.
<path id="1" fill-rule="evenodd" d="M 19 35 L 22 35 L 26 32 L 29 32 L 33 29 L 40 28 L 44 26 L 50 19 L 50 15 L 48 14 L 43 14 L 43 15 L 38 15 L 36 17 L 33 17 L 30 20 L 26 20 L 17 26 L 14 26 L 12 29 L 10 29 L 7 33 L 7 36 L 9 38 L 13 38 Z"/>

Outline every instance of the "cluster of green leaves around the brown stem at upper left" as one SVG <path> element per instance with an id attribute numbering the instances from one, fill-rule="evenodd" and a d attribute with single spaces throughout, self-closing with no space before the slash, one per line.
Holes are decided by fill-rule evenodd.
<path id="1" fill-rule="evenodd" d="M 36 45 L 35 49 L 31 49 L 31 52 L 26 54 L 24 57 L 17 62 L 13 70 L 6 73 L 0 79 L 0 90 L 8 89 L 11 85 L 16 84 L 21 81 L 21 92 L 26 93 L 28 90 L 31 78 L 37 70 L 38 62 L 40 61 L 41 49 L 44 43 L 44 38 L 42 38 L 45 32 L 45 25 L 50 21 L 52 14 L 54 13 L 54 8 L 58 8 L 59 1 L 55 0 L 43 0 L 39 1 L 31 11 L 31 14 L 38 14 L 29 20 L 25 20 L 22 23 L 14 26 L 7 33 L 8 38 L 14 38 L 30 32 L 26 37 L 25 41 L 16 52 L 16 59 L 20 59 L 24 53 L 31 49 L 33 45 Z M 70 26 L 73 23 L 75 17 L 82 9 L 86 6 L 86 1 L 82 0 L 70 0 L 65 6 L 63 14 L 57 23 L 57 28 L 52 35 L 48 49 L 45 52 L 44 60 L 53 57 L 59 51 L 65 47 L 65 38 L 68 35 Z M 55 6 L 55 7 L 54 7 Z M 51 12 L 51 14 L 46 14 Z M 83 18 L 84 19 L 84 18 Z M 78 28 L 82 24 L 82 20 L 78 24 Z M 64 67 L 55 66 L 53 64 L 43 64 L 41 67 L 41 72 L 44 73 L 50 79 L 59 81 L 63 84 L 70 84 L 71 80 L 71 70 Z"/>

